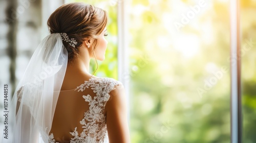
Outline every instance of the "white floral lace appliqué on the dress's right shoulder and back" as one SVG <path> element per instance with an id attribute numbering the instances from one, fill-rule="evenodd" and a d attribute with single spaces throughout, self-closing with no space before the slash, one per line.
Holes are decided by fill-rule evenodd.
<path id="1" fill-rule="evenodd" d="M 76 129 L 70 132 L 73 138 L 71 143 L 105 143 L 109 142 L 108 132 L 106 130 L 106 116 L 103 114 L 106 102 L 110 99 L 109 92 L 115 89 L 116 85 L 122 83 L 112 78 L 91 78 L 78 86 L 75 90 L 84 91 L 86 88 L 91 88 L 96 96 L 92 98 L 90 94 L 82 96 L 84 101 L 89 103 L 89 110 L 84 113 L 84 118 L 80 121 L 83 131 L 79 134 Z M 58 143 L 54 139 L 53 133 L 48 136 L 48 142 Z"/>

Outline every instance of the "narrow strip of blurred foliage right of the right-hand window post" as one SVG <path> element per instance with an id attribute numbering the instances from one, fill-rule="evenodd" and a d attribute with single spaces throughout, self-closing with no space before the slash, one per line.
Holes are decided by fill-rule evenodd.
<path id="1" fill-rule="evenodd" d="M 243 142 L 256 142 L 256 3 L 241 1 Z"/>

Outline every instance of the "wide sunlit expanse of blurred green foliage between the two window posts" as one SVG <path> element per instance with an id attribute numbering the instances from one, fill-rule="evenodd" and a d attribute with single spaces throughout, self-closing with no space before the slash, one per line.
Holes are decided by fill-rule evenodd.
<path id="1" fill-rule="evenodd" d="M 230 142 L 229 72 L 204 88 L 212 72 L 229 70 L 228 3 L 207 1 L 178 31 L 173 23 L 197 1 L 133 2 L 144 11 L 131 12 L 131 58 L 150 57 L 132 77 L 133 142 Z"/>

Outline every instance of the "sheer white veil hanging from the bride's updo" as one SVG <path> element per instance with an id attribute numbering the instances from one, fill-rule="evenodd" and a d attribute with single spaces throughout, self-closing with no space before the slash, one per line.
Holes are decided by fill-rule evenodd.
<path id="1" fill-rule="evenodd" d="M 9 110 L 8 139 L 2 142 L 48 142 L 53 115 L 68 63 L 59 33 L 38 45 L 18 83 Z"/>

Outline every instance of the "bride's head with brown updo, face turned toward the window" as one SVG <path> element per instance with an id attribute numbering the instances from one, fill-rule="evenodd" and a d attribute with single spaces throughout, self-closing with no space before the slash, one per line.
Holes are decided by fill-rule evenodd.
<path id="1" fill-rule="evenodd" d="M 92 49 L 94 58 L 104 59 L 106 40 L 105 27 L 108 22 L 106 11 L 84 3 L 71 3 L 59 7 L 48 19 L 52 33 L 67 33 L 77 42 L 75 47 L 62 41 L 69 53 L 69 62 L 77 58 L 79 47 L 86 44 Z"/>

